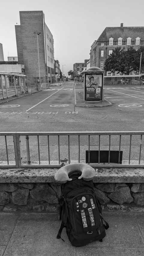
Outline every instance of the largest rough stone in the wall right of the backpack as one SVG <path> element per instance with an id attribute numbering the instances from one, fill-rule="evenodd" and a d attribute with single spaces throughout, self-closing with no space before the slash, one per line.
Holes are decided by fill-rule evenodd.
<path id="1" fill-rule="evenodd" d="M 130 188 L 128 186 L 119 188 L 113 193 L 110 193 L 108 197 L 119 204 L 133 202 L 133 197 L 131 196 Z"/>

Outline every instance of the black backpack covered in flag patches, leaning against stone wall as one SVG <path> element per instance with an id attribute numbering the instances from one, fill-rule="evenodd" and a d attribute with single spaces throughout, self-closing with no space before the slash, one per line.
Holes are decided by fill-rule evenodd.
<path id="1" fill-rule="evenodd" d="M 101 214 L 101 204 L 95 195 L 93 181 L 78 179 L 79 175 L 71 174 L 69 177 L 72 181 L 61 186 L 58 211 L 62 222 L 57 238 L 61 238 L 62 229 L 65 227 L 73 246 L 87 245 L 96 240 L 102 242 L 106 236 L 105 229 L 109 227 Z"/>

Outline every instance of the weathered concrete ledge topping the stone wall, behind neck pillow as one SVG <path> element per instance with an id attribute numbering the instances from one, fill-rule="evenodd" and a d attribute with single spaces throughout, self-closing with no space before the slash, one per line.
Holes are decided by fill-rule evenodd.
<path id="1" fill-rule="evenodd" d="M 58 168 L 0 168 L 0 183 L 55 182 Z M 95 183 L 144 183 L 143 168 L 98 168 Z"/>

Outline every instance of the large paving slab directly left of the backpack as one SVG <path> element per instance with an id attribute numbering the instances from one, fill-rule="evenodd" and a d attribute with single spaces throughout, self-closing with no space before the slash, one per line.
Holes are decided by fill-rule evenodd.
<path id="1" fill-rule="evenodd" d="M 75 256 L 76 249 L 66 235 L 56 239 L 61 222 L 48 214 L 22 214 L 11 236 L 4 256 Z"/>

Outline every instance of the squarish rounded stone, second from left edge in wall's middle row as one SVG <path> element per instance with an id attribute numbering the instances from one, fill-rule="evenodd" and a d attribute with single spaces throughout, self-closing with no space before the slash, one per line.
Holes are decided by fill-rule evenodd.
<path id="1" fill-rule="evenodd" d="M 16 191 L 12 192 L 12 201 L 14 204 L 26 205 L 29 196 L 29 189 L 18 188 Z"/>

